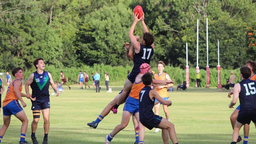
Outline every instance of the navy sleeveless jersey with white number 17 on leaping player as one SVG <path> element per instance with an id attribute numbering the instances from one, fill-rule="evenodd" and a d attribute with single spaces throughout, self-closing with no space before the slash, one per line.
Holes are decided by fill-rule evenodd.
<path id="1" fill-rule="evenodd" d="M 140 72 L 139 67 L 141 66 L 141 64 L 143 63 L 150 64 L 150 60 L 153 54 L 154 54 L 154 49 L 152 48 L 152 46 L 145 46 L 141 44 L 139 53 L 134 54 L 134 67 L 132 71 Z"/>

